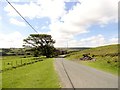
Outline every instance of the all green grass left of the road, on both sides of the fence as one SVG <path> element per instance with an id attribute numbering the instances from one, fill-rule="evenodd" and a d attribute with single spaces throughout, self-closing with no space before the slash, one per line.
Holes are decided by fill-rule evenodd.
<path id="1" fill-rule="evenodd" d="M 32 62 L 34 59 L 33 57 L 24 58 L 22 63 Z M 60 88 L 58 76 L 53 66 L 54 60 L 41 59 L 43 61 L 0 73 L 2 74 L 2 88 Z M 3 57 L 3 64 L 11 62 L 13 66 L 16 66 L 16 61 L 21 64 L 21 57 Z"/>

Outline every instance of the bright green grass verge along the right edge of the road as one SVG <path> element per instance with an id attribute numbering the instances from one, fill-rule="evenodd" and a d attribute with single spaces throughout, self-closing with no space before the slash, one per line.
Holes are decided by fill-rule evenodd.
<path id="1" fill-rule="evenodd" d="M 113 75 L 120 75 L 118 74 L 118 66 L 119 66 L 119 62 L 118 62 L 118 56 L 116 57 L 96 57 L 96 61 L 80 61 L 79 59 L 75 59 L 74 57 L 77 57 L 77 55 L 75 56 L 71 56 L 68 57 L 68 60 L 72 60 L 72 61 L 77 61 L 80 64 L 83 65 L 87 65 L 93 68 L 96 68 L 98 70 L 102 70 L 104 72 L 108 72 L 111 73 Z M 73 59 L 74 58 L 74 59 Z M 117 61 L 117 62 L 115 62 Z"/>

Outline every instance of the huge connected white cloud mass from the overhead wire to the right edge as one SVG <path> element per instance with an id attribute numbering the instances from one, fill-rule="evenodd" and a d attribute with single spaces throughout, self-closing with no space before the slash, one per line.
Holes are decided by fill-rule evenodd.
<path id="1" fill-rule="evenodd" d="M 70 41 L 71 46 L 104 45 L 106 40 L 102 35 L 81 39 L 80 41 L 75 40 L 74 36 L 90 32 L 88 27 L 93 24 L 103 27 L 110 22 L 116 22 L 118 19 L 119 0 L 79 1 L 81 4 L 78 3 L 69 12 L 65 11 L 65 0 L 37 0 L 37 3 L 13 5 L 24 17 L 49 17 L 51 24 L 48 28 L 51 31 L 48 34 L 51 34 L 56 40 L 56 46 L 65 46 L 66 41 Z M 8 12 L 9 16 L 18 16 L 9 5 L 4 10 Z M 62 22 L 59 21 L 59 18 L 61 18 Z"/>

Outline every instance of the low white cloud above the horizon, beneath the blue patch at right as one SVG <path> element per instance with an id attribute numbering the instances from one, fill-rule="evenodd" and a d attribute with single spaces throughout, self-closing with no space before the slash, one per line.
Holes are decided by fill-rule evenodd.
<path id="1" fill-rule="evenodd" d="M 69 47 L 96 47 L 105 44 L 105 38 L 103 35 L 97 35 L 92 37 L 83 38 L 80 40 L 69 40 Z"/>

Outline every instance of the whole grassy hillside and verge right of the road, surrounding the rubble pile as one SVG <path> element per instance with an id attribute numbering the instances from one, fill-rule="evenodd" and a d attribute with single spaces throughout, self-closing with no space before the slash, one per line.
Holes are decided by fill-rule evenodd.
<path id="1" fill-rule="evenodd" d="M 90 53 L 89 56 L 94 55 L 96 61 L 80 61 L 80 63 L 110 72 L 112 74 L 118 73 L 118 46 L 119 45 L 108 45 L 108 46 L 101 46 L 91 49 L 86 49 L 83 51 L 71 53 L 68 55 L 69 60 L 79 60 L 83 57 L 83 54 Z"/>

